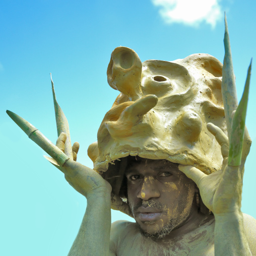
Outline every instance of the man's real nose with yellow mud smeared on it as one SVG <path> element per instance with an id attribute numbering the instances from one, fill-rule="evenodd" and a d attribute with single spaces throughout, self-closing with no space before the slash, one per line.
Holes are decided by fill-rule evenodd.
<path id="1" fill-rule="evenodd" d="M 144 177 L 144 182 L 140 191 L 138 192 L 137 198 L 142 200 L 149 200 L 151 198 L 159 198 L 160 192 L 157 188 L 156 180 L 152 176 Z"/>

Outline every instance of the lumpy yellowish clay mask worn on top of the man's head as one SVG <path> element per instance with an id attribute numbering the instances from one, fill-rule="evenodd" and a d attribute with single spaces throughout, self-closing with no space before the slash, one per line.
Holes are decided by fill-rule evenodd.
<path id="1" fill-rule="evenodd" d="M 206 174 L 221 168 L 220 146 L 206 127 L 212 122 L 227 134 L 218 59 L 193 54 L 142 63 L 134 50 L 117 47 L 107 78 L 120 94 L 88 148 L 96 171 L 128 155 L 194 165 Z"/>

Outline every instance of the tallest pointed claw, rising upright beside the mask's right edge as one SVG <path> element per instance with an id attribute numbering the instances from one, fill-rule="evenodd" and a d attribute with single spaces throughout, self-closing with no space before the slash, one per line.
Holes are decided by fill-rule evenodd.
<path id="1" fill-rule="evenodd" d="M 235 88 L 235 76 L 232 63 L 231 48 L 229 42 L 228 25 L 225 14 L 225 35 L 224 35 L 225 57 L 222 68 L 221 92 L 224 104 L 225 117 L 227 122 L 228 138 L 230 140 L 232 112 L 236 110 L 238 101 Z"/>

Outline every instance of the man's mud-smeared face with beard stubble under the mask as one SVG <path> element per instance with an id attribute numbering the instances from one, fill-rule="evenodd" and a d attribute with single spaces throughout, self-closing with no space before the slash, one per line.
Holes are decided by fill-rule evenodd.
<path id="1" fill-rule="evenodd" d="M 188 218 L 195 183 L 177 164 L 139 158 L 125 170 L 129 206 L 142 233 L 162 238 Z"/>

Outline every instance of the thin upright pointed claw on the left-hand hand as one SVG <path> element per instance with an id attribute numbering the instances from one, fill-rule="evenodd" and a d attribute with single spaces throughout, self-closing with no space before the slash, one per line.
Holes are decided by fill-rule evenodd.
<path id="1" fill-rule="evenodd" d="M 51 76 L 51 73 L 50 73 Z M 67 135 L 67 140 L 65 142 L 65 150 L 64 153 L 70 158 L 73 159 L 73 152 L 72 152 L 72 145 L 71 145 L 71 139 L 70 139 L 70 129 L 69 129 L 69 122 L 66 118 L 65 114 L 63 113 L 62 109 L 60 108 L 59 104 L 56 101 L 56 95 L 54 91 L 54 85 L 51 78 L 51 89 L 52 89 L 52 95 L 53 95 L 53 103 L 54 103 L 54 110 L 55 110 L 55 118 L 56 118 L 56 124 L 57 124 L 57 133 L 58 136 L 63 132 Z"/>

